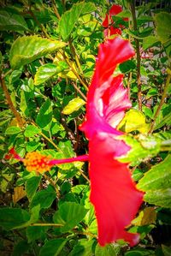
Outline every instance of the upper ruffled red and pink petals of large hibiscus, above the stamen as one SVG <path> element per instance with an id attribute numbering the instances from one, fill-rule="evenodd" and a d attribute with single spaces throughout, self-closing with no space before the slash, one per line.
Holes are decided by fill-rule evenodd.
<path id="1" fill-rule="evenodd" d="M 99 129 L 113 133 L 110 124 L 116 126 L 121 122 L 124 110 L 131 106 L 127 89 L 122 86 L 122 76 L 113 78 L 112 74 L 119 63 L 133 55 L 133 47 L 124 39 L 115 38 L 100 45 L 87 96 L 86 121 L 80 127 L 89 140 Z"/>

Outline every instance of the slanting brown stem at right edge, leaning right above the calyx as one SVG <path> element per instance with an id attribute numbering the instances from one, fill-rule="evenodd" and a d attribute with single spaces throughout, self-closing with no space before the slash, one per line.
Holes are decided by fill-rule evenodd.
<path id="1" fill-rule="evenodd" d="M 162 104 L 164 104 L 165 98 L 167 98 L 167 92 L 168 92 L 168 86 L 169 86 L 170 80 L 171 80 L 171 73 L 170 74 L 168 73 L 166 84 L 164 86 L 164 90 L 163 90 L 163 93 L 162 93 L 161 102 L 160 102 L 160 104 L 158 105 L 158 107 L 156 109 L 156 113 L 155 113 L 155 116 L 153 118 L 153 122 L 151 122 L 149 134 L 152 134 L 152 132 L 155 128 L 156 118 L 159 115 L 160 110 L 162 109 Z"/>

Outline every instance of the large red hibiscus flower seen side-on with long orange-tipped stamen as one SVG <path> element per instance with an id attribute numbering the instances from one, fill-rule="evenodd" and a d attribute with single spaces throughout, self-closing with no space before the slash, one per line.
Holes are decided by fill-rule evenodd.
<path id="1" fill-rule="evenodd" d="M 30 152 L 26 158 L 20 158 L 14 149 L 9 151 L 25 164 L 27 170 L 39 173 L 50 170 L 55 164 L 89 160 L 90 199 L 95 207 L 101 246 L 119 239 L 128 241 L 131 246 L 139 241 L 138 234 L 128 233 L 126 229 L 139 210 L 143 193 L 135 187 L 127 164 L 117 160 L 130 149 L 124 141 L 118 140 L 122 133 L 117 130 L 117 125 L 131 103 L 122 85 L 123 75 L 113 76 L 116 66 L 133 55 L 129 42 L 120 38 L 108 40 L 99 47 L 87 96 L 85 122 L 80 128 L 89 140 L 89 156 L 51 159 Z"/>

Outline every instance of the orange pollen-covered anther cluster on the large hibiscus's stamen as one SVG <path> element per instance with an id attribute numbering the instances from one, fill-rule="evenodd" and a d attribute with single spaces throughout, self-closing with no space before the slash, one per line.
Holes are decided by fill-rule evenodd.
<path id="1" fill-rule="evenodd" d="M 38 173 L 44 173 L 44 171 L 48 171 L 51 168 L 50 156 L 43 156 L 38 152 L 28 152 L 23 163 L 28 171 L 36 171 Z"/>

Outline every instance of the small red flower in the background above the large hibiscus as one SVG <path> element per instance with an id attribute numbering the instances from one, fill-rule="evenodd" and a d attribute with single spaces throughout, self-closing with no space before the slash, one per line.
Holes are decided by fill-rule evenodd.
<path id="1" fill-rule="evenodd" d="M 124 28 L 123 25 L 119 25 L 119 27 L 115 27 L 115 22 L 112 20 L 112 16 L 118 15 L 121 13 L 122 8 L 121 5 L 114 4 L 109 9 L 109 14 L 105 16 L 105 19 L 102 23 L 102 26 L 105 27 L 104 29 L 104 37 L 109 37 L 113 34 L 120 34 L 121 35 L 121 28 Z M 128 21 L 128 18 L 123 18 L 123 21 Z"/>

